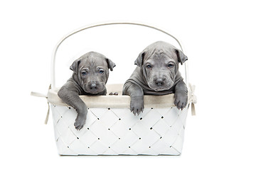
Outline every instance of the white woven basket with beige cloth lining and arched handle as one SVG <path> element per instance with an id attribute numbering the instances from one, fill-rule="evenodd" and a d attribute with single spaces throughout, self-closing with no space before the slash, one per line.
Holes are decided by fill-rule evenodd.
<path id="1" fill-rule="evenodd" d="M 87 120 L 82 130 L 74 128 L 77 115 L 75 110 L 58 98 L 58 89 L 55 88 L 55 55 L 60 44 L 70 35 L 81 30 L 116 24 L 154 28 L 141 23 L 102 23 L 75 30 L 60 40 L 55 47 L 51 88 L 46 98 L 53 113 L 58 153 L 60 155 L 179 155 L 183 146 L 188 107 L 190 103 L 192 106 L 196 103 L 191 86 L 188 86 L 188 105 L 183 111 L 174 106 L 174 94 L 144 96 L 144 112 L 134 116 L 129 111 L 129 96 L 121 95 L 122 84 L 107 85 L 107 91 L 117 91 L 119 96 L 80 96 L 88 107 Z M 159 28 L 154 29 L 166 33 Z M 174 39 L 178 42 L 176 38 Z M 181 46 L 180 42 L 178 44 Z M 186 75 L 186 83 L 187 80 Z M 43 96 L 36 93 L 33 95 Z"/>

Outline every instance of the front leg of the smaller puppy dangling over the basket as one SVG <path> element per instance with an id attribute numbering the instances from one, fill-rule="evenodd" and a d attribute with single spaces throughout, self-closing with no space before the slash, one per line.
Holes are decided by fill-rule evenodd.
<path id="1" fill-rule="evenodd" d="M 81 130 L 85 125 L 85 120 L 87 117 L 87 106 L 79 97 L 79 90 L 73 86 L 72 82 L 67 82 L 61 89 L 58 91 L 58 96 L 68 104 L 72 106 L 77 111 L 78 116 L 75 119 L 75 129 Z"/>

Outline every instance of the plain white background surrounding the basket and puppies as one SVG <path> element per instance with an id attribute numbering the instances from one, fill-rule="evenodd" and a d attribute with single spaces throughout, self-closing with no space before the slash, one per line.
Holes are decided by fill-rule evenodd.
<path id="1" fill-rule="evenodd" d="M 1 1 L 0 169 L 255 169 L 255 7 L 246 0 Z M 63 35 L 90 23 L 120 20 L 164 28 L 183 42 L 198 103 L 197 115 L 188 115 L 180 157 L 60 157 L 51 115 L 43 124 L 46 99 L 30 96 L 31 91 L 46 94 L 50 57 Z M 139 36 L 131 32 L 132 38 Z M 93 46 L 117 64 L 110 83 L 123 83 L 151 43 L 141 47 L 138 40 L 127 41 L 136 47 L 125 39 L 111 46 L 111 38 L 102 48 Z M 119 48 L 121 54 L 113 51 Z M 68 64 L 81 50 L 58 60 L 67 68 L 58 74 L 70 76 Z"/>

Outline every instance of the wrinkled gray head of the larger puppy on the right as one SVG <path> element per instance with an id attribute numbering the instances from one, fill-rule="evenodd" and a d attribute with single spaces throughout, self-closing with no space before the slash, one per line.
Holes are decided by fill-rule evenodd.
<path id="1" fill-rule="evenodd" d="M 173 45 L 154 42 L 143 50 L 134 64 L 141 67 L 148 86 L 154 91 L 164 91 L 174 86 L 178 63 L 188 57 Z"/>

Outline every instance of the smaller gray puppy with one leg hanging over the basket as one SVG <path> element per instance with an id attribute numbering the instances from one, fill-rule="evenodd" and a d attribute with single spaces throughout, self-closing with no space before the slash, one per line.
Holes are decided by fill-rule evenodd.
<path id="1" fill-rule="evenodd" d="M 87 116 L 87 106 L 79 95 L 106 95 L 109 69 L 112 71 L 114 67 L 114 62 L 97 52 L 82 55 L 70 66 L 73 75 L 58 91 L 58 96 L 77 111 L 76 130 L 83 128 Z"/>

